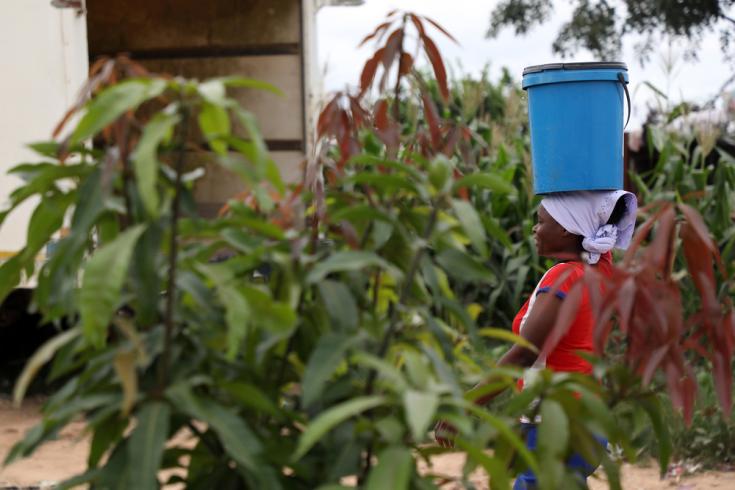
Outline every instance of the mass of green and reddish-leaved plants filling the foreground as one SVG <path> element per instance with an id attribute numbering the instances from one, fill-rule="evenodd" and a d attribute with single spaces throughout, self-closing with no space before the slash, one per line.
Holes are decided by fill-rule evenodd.
<path id="1" fill-rule="evenodd" d="M 494 103 L 481 94 L 469 106 L 482 84 L 450 90 L 430 29 L 442 31 L 395 12 L 368 36 L 376 54 L 360 91 L 326 105 L 297 186 L 281 181 L 253 115 L 228 96 L 274 88 L 162 78 L 124 58 L 93 66 L 92 98 L 55 141 L 32 145 L 37 163 L 12 171 L 25 181 L 12 208 L 41 199 L 26 246 L 0 267 L 0 296 L 36 274 L 34 307 L 66 327 L 16 384 L 20 401 L 48 363 L 59 388 L 6 462 L 83 416 L 88 470 L 62 488 L 158 488 L 161 469 L 202 489 L 336 489 L 346 477 L 369 489 L 470 488 L 476 468 L 494 489 L 525 468 L 541 488 L 578 488 L 564 465 L 570 451 L 600 461 L 620 488 L 595 434 L 634 460 L 652 427 L 663 471 L 672 444 L 662 392 L 696 421 L 706 382 L 730 412 L 733 227 L 711 220 L 732 208 L 710 196 L 731 195 L 732 160 L 671 171 L 690 165 L 673 138 L 659 145 L 664 182 L 641 181 L 656 199 L 612 287 L 598 294 L 594 270 L 585 277 L 597 349 L 608 353 L 593 359 L 594 377 L 541 372 L 517 392 L 521 373 L 494 367 L 499 344 L 524 342 L 506 327 L 542 270 L 527 145 L 511 117 L 522 103 L 508 85 Z M 433 81 L 410 53 L 428 57 Z M 194 154 L 246 188 L 216 219 L 196 215 L 204 167 Z M 692 192 L 703 193 L 693 205 Z M 575 291 L 553 336 L 573 316 Z M 511 391 L 491 410 L 473 403 L 483 393 L 465 395 L 487 376 L 488 389 Z M 520 435 L 524 414 L 542 416 L 535 453 Z M 445 451 L 429 433 L 438 419 L 458 429 L 463 475 L 417 472 L 418 460 Z"/>

